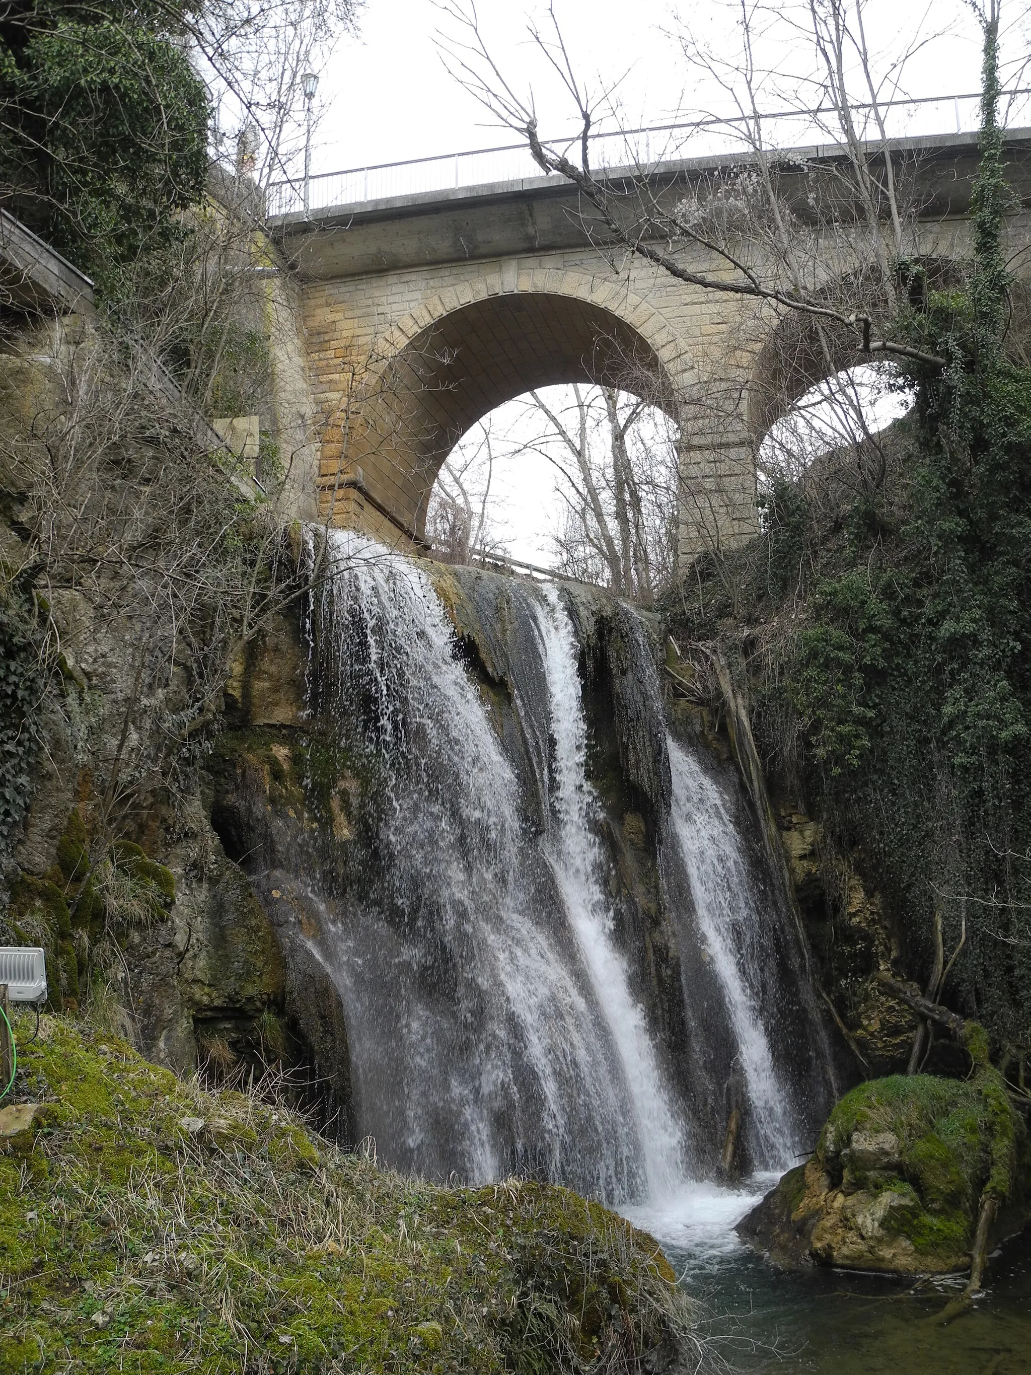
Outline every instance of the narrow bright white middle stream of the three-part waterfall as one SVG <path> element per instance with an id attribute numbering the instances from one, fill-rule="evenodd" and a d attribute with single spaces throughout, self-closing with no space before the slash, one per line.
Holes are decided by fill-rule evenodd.
<path id="1" fill-rule="evenodd" d="M 554 829 L 547 854 L 619 1052 L 635 1108 L 649 1194 L 658 1198 L 683 1180 L 685 1129 L 658 1064 L 647 1016 L 631 994 L 627 965 L 613 939 L 597 837 L 598 803 L 586 771 L 587 723 L 576 671 L 577 646 L 554 584 L 543 588 L 536 610 L 554 741 Z"/>

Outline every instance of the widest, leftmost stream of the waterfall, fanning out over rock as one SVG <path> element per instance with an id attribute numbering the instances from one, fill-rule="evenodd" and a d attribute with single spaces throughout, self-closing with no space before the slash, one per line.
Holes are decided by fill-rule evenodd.
<path id="1" fill-rule="evenodd" d="M 472 1181 L 532 1170 L 639 1196 L 617 1046 L 520 820 L 516 778 L 412 561 L 330 532 L 318 672 L 346 733 L 364 703 L 378 884 L 331 923 L 357 1115 L 396 1165 Z M 373 899 L 373 901 L 370 901 Z"/>

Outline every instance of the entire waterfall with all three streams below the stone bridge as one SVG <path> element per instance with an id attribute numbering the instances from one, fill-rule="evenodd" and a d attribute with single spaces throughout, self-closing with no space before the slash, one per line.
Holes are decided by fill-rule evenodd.
<path id="1" fill-rule="evenodd" d="M 309 865 L 298 939 L 340 994 L 360 1133 L 411 1173 L 654 1202 L 711 1174 L 737 1074 L 749 1162 L 782 1163 L 811 1079 L 781 1052 L 804 1040 L 784 923 L 723 785 L 668 734 L 641 622 L 602 594 L 448 575 L 473 644 L 425 566 L 333 531 L 309 532 L 312 568 L 319 539 L 334 572 L 311 598 L 309 719 L 335 741 L 323 774 L 360 778 L 363 802 L 344 858 Z M 605 616 L 661 968 L 590 777 L 577 663 Z"/>

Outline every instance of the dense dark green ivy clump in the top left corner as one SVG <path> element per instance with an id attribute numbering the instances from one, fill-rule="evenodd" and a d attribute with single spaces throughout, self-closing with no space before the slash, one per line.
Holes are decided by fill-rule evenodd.
<path id="1" fill-rule="evenodd" d="M 179 232 L 208 175 L 209 102 L 175 4 L 34 0 L 0 18 L 7 208 L 103 283 Z"/>

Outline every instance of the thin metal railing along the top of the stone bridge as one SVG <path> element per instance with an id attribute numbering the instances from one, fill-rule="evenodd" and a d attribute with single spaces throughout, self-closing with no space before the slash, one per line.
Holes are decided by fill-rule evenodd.
<path id="1" fill-rule="evenodd" d="M 1008 122 L 1016 124 L 1027 116 L 1031 87 L 1005 91 L 1009 102 Z M 961 95 L 917 96 L 885 100 L 877 109 L 885 122 L 888 138 L 921 138 L 936 133 L 972 133 L 977 129 L 980 92 Z M 837 143 L 830 120 L 833 106 L 814 110 L 779 110 L 760 116 L 763 143 L 768 148 L 810 147 Z M 852 107 L 861 138 L 880 136 L 873 106 Z M 726 116 L 693 122 L 656 124 L 641 129 L 619 129 L 612 133 L 590 135 L 591 161 L 595 168 L 635 166 L 654 168 L 691 157 L 704 158 L 748 150 L 742 125 L 746 116 Z M 564 140 L 553 139 L 553 144 Z M 577 138 L 566 140 L 576 155 Z M 267 190 L 269 219 L 285 214 L 304 214 L 334 206 L 363 205 L 370 201 L 419 192 L 452 191 L 462 187 L 492 183 L 522 182 L 542 176 L 540 168 L 525 143 L 506 143 L 494 148 L 470 148 L 459 153 L 440 153 L 430 158 L 408 158 L 403 162 L 377 162 L 342 172 L 319 172 L 296 180 L 272 182 Z"/>

